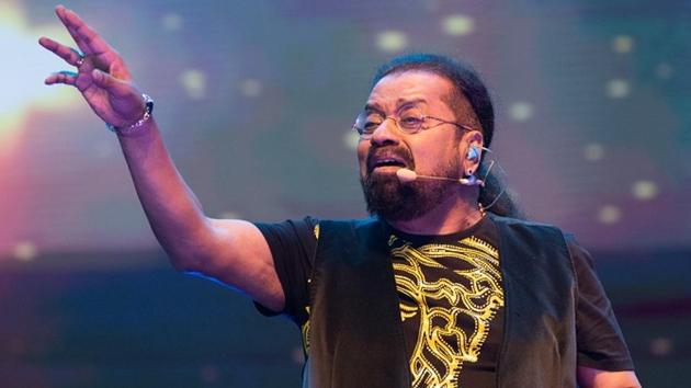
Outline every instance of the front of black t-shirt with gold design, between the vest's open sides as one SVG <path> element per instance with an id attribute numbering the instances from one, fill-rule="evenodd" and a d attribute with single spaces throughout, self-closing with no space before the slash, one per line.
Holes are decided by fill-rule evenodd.
<path id="1" fill-rule="evenodd" d="M 494 387 L 503 331 L 497 229 L 443 236 L 389 228 L 411 386 Z"/>

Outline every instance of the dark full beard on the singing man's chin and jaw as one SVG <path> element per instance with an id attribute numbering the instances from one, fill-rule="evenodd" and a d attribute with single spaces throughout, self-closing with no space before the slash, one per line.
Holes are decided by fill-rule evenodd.
<path id="1" fill-rule="evenodd" d="M 461 170 L 456 164 L 454 160 L 429 175 L 457 179 Z M 407 163 L 407 168 L 415 171 L 414 163 Z M 401 183 L 395 173 L 377 173 L 370 168 L 367 174 L 360 178 L 360 184 L 370 215 L 377 215 L 387 221 L 417 219 L 457 193 L 455 182 L 416 180 Z"/>

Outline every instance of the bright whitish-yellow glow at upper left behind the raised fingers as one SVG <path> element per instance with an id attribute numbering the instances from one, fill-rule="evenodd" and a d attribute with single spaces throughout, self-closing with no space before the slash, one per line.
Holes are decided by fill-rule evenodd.
<path id="1" fill-rule="evenodd" d="M 0 61 L 3 91 L 0 93 L 0 156 L 13 148 L 24 119 L 32 109 L 64 111 L 78 105 L 72 88 L 48 88 L 43 80 L 52 72 L 69 68 L 60 58 L 37 43 L 42 35 L 63 43 L 72 41 L 56 22 L 31 26 L 19 2 L 0 2 L 0 42 L 9 55 Z"/>

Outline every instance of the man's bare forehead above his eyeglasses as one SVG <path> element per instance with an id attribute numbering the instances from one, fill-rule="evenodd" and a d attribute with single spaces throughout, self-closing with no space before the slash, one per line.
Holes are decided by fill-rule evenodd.
<path id="1" fill-rule="evenodd" d="M 429 71 L 396 72 L 382 78 L 372 88 L 367 105 L 394 110 L 407 102 L 423 101 L 420 103 L 429 106 L 448 106 L 445 101 L 452 90 L 450 80 Z"/>

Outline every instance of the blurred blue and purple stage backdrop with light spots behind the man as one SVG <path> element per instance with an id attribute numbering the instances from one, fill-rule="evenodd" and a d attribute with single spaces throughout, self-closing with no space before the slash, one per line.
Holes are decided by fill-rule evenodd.
<path id="1" fill-rule="evenodd" d="M 0 386 L 296 386 L 297 331 L 166 269 L 115 136 L 43 84 L 69 69 L 36 43 L 72 43 L 54 5 L 0 0 Z M 691 2 L 66 5 L 156 100 L 211 217 L 365 216 L 351 125 L 374 69 L 420 50 L 473 64 L 520 203 L 597 253 L 646 386 L 675 386 L 662 376 L 691 357 Z"/>

